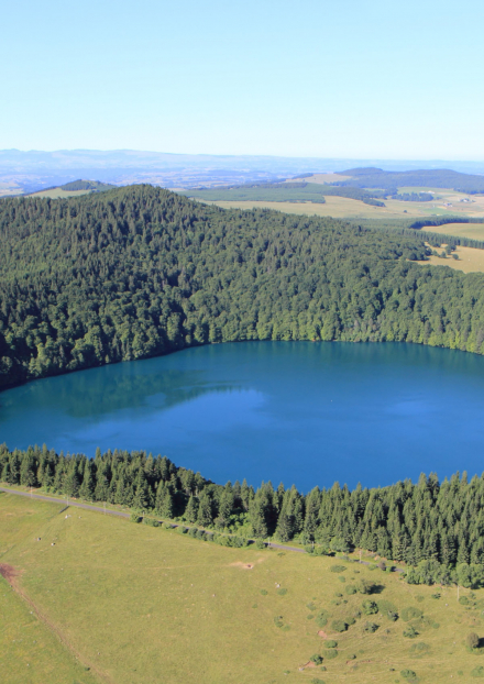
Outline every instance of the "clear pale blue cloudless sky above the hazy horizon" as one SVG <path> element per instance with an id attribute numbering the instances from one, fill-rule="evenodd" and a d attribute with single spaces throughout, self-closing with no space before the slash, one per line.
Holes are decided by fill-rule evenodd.
<path id="1" fill-rule="evenodd" d="M 484 159 L 482 0 L 15 0 L 0 148 Z"/>

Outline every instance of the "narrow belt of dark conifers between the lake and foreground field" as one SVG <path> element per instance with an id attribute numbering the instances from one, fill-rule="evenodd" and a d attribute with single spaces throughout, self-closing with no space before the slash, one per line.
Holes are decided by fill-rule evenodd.
<path id="1" fill-rule="evenodd" d="M 416 566 L 414 582 L 448 582 L 455 565 L 461 575 L 484 580 L 484 476 L 469 482 L 458 473 L 439 483 L 421 475 L 417 484 L 352 492 L 336 483 L 305 496 L 271 483 L 257 489 L 245 481 L 216 485 L 144 452 L 98 450 L 90 460 L 45 445 L 12 452 L 2 445 L 0 482 L 121 504 L 245 539 L 316 542 L 322 553 L 363 548 Z"/>

